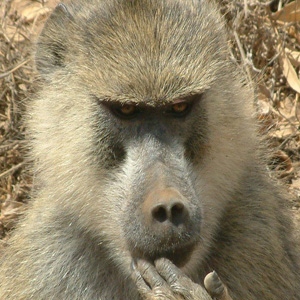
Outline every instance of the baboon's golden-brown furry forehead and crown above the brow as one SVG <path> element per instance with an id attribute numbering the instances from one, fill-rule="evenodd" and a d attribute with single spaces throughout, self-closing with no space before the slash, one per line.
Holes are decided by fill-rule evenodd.
<path id="1" fill-rule="evenodd" d="M 83 45 L 78 59 L 85 68 L 77 73 L 97 96 L 174 102 L 201 93 L 215 80 L 226 43 L 219 15 L 208 2 L 95 3 L 91 12 L 78 13 Z"/>

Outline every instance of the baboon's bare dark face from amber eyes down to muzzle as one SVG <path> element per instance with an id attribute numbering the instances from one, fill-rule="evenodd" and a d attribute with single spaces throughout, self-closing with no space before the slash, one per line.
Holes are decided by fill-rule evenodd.
<path id="1" fill-rule="evenodd" d="M 134 257 L 184 264 L 200 240 L 201 192 L 193 164 L 207 141 L 203 97 L 156 106 L 99 100 L 100 124 L 110 124 L 106 168 L 121 175 L 107 188 L 116 192 L 119 226 Z"/>

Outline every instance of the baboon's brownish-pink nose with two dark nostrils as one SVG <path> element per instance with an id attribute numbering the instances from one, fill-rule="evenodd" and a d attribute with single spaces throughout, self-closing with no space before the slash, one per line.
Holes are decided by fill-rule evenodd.
<path id="1" fill-rule="evenodd" d="M 147 225 L 153 227 L 178 227 L 189 219 L 187 200 L 172 188 L 151 192 L 143 204 L 143 212 Z"/>

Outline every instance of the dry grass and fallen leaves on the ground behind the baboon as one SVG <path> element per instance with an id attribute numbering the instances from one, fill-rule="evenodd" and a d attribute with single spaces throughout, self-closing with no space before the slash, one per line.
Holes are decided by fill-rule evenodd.
<path id="1" fill-rule="evenodd" d="M 56 0 L 0 3 L 0 238 L 26 209 L 32 176 L 25 157 L 24 102 L 33 89 L 30 53 Z M 263 130 L 273 147 L 272 168 L 294 197 L 300 219 L 300 1 L 223 0 L 232 59 L 257 83 Z M 300 228 L 300 222 L 298 225 Z"/>

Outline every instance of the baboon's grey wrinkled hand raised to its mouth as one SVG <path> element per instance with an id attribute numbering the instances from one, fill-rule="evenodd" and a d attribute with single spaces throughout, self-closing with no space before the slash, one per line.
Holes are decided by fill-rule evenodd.
<path id="1" fill-rule="evenodd" d="M 145 300 L 230 300 L 227 290 L 218 275 L 213 272 L 206 276 L 202 286 L 194 283 L 168 259 L 160 258 L 155 266 L 144 260 L 138 260 L 134 266 L 133 278 Z M 225 296 L 225 298 L 224 298 Z"/>

